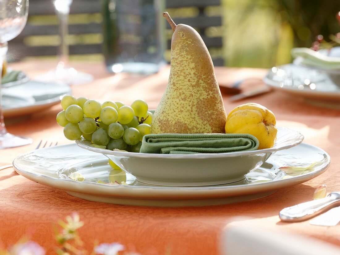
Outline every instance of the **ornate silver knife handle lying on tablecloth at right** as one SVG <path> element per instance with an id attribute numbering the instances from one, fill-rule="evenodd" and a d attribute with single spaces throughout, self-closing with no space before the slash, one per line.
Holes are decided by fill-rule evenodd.
<path id="1" fill-rule="evenodd" d="M 340 205 L 340 194 L 333 192 L 325 198 L 284 208 L 279 213 L 279 217 L 282 221 L 289 222 L 308 220 L 338 205 Z"/>

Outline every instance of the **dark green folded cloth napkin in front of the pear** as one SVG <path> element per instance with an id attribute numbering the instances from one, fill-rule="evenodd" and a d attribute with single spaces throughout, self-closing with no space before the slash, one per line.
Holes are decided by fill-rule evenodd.
<path id="1" fill-rule="evenodd" d="M 251 134 L 148 134 L 141 153 L 193 154 L 256 150 L 259 142 Z"/>

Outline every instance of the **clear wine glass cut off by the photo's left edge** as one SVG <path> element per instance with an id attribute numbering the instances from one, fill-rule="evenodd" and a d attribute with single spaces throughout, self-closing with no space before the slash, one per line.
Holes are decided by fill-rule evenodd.
<path id="1" fill-rule="evenodd" d="M 29 0 L 0 0 L 0 74 L 7 53 L 7 42 L 18 36 L 26 25 Z M 1 89 L 1 75 L 0 75 Z M 0 149 L 31 144 L 32 139 L 7 132 L 3 121 L 0 90 Z"/>

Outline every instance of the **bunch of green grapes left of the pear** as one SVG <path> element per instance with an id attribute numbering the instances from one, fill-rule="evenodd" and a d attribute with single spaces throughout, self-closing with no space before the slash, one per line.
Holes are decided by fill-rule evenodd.
<path id="1" fill-rule="evenodd" d="M 86 97 L 65 95 L 61 105 L 64 110 L 56 120 L 69 140 L 83 137 L 109 150 L 139 152 L 143 136 L 150 134 L 152 113 L 141 99 L 127 106 L 119 101 L 101 104 Z"/>

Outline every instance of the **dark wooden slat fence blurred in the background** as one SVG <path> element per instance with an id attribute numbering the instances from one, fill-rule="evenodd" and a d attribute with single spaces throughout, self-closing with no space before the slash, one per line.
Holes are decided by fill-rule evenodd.
<path id="1" fill-rule="evenodd" d="M 102 1 L 100 0 L 74 0 L 71 5 L 69 21 L 70 55 L 97 56 L 102 59 Z M 222 36 L 209 37 L 206 30 L 211 27 L 220 27 L 220 15 L 207 16 L 207 7 L 219 6 L 220 0 L 166 0 L 166 9 L 170 15 L 179 8 L 194 8 L 195 15 L 183 17 L 174 16 L 176 23 L 184 23 L 194 27 L 202 36 L 208 49 L 216 52 L 222 49 Z M 164 20 L 164 22 L 166 22 Z M 166 22 L 167 23 L 167 22 Z M 167 23 L 166 34 L 170 25 Z M 26 57 L 55 56 L 59 45 L 57 18 L 50 0 L 30 0 L 29 19 L 22 33 L 9 43 L 8 60 L 19 61 Z M 167 38 L 167 52 L 165 57 L 169 60 L 171 37 Z M 221 54 L 212 56 L 214 64 L 224 64 Z"/>

